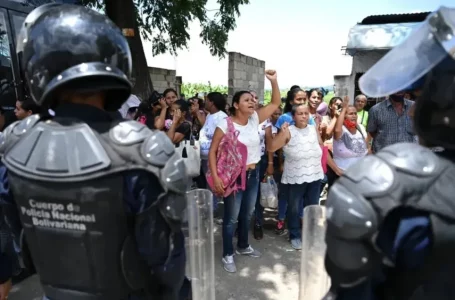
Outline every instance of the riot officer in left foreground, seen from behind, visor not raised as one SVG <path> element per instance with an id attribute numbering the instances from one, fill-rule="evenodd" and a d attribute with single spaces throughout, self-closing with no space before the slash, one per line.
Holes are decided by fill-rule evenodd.
<path id="1" fill-rule="evenodd" d="M 27 17 L 17 51 L 33 100 L 55 117 L 5 130 L 0 197 L 46 297 L 177 299 L 186 169 L 164 133 L 109 113 L 131 94 L 122 32 L 54 4 Z"/>

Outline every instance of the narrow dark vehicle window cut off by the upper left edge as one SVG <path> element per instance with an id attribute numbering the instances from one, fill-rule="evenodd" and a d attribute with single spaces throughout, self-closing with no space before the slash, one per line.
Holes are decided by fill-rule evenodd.
<path id="1" fill-rule="evenodd" d="M 6 14 L 0 11 L 0 106 L 5 110 L 9 110 L 14 109 L 16 105 L 16 92 L 13 85 L 11 41 L 6 22 Z"/>

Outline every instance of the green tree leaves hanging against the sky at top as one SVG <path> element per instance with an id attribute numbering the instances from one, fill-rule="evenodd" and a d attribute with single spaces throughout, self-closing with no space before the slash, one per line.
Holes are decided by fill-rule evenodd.
<path id="1" fill-rule="evenodd" d="M 83 5 L 103 9 L 105 0 L 80 0 Z M 202 43 L 213 56 L 224 57 L 228 34 L 236 27 L 240 6 L 249 0 L 217 0 L 207 9 L 208 0 L 116 0 L 134 1 L 142 36 L 153 42 L 153 55 L 188 48 L 189 24 L 199 21 Z M 210 16 L 209 16 L 210 15 Z"/>

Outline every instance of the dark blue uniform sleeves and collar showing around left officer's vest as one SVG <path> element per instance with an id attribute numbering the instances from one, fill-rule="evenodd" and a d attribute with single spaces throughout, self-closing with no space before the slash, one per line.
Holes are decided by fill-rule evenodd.
<path id="1" fill-rule="evenodd" d="M 76 118 L 91 125 L 112 122 L 110 115 L 100 109 L 87 105 L 65 104 L 55 110 L 59 118 Z M 173 249 L 170 252 L 170 228 L 160 214 L 156 202 L 161 188 L 151 181 L 146 171 L 124 173 L 123 199 L 127 214 L 139 215 L 147 210 L 148 220 L 136 228 L 134 236 L 142 258 L 147 262 L 153 276 L 150 285 L 157 285 L 163 299 L 174 299 L 185 278 L 184 236 L 181 231 L 174 234 Z M 21 231 L 21 222 L 16 211 L 14 195 L 11 193 L 5 166 L 0 166 L 0 199 L 8 211 L 8 220 L 14 232 Z M 0 282 L 12 275 L 11 259 L 0 256 Z M 164 296 L 167 295 L 167 296 Z M 52 299 L 60 300 L 60 299 Z"/>

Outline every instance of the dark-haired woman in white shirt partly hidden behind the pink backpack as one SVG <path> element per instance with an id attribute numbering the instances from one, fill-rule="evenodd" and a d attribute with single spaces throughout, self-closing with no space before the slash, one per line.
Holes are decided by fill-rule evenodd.
<path id="1" fill-rule="evenodd" d="M 204 126 L 202 126 L 199 132 L 199 143 L 201 147 L 201 168 L 205 178 L 208 169 L 208 159 L 210 145 L 212 144 L 213 134 L 218 126 L 218 123 L 227 118 L 225 112 L 226 98 L 218 92 L 212 92 L 207 95 L 207 101 L 205 101 L 205 110 L 209 112 L 209 115 L 205 119 Z M 210 188 L 210 187 L 209 187 Z M 213 211 L 216 212 L 218 208 L 218 197 L 213 195 Z"/>

